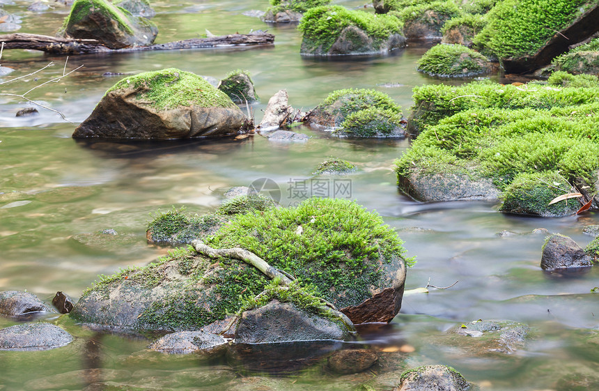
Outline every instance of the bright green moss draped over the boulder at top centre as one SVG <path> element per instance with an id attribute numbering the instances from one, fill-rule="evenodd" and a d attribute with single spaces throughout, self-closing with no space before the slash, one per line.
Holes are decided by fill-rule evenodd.
<path id="1" fill-rule="evenodd" d="M 309 9 L 297 28 L 303 33 L 302 46 L 328 52 L 341 31 L 356 26 L 373 38 L 375 49 L 392 34 L 400 34 L 402 25 L 396 17 L 373 15 L 360 10 L 348 10 L 342 6 L 320 6 Z M 313 50 L 309 50 L 311 52 Z"/>

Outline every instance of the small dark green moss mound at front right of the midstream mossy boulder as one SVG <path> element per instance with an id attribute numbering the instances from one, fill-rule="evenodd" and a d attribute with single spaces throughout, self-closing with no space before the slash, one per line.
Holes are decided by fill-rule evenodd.
<path id="1" fill-rule="evenodd" d="M 337 134 L 356 137 L 393 137 L 403 135 L 403 118 L 393 109 L 368 109 L 352 112 L 341 123 Z"/>

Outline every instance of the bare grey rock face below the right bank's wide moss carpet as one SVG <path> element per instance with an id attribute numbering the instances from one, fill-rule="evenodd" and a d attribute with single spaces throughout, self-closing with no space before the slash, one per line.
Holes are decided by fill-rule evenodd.
<path id="1" fill-rule="evenodd" d="M 399 187 L 417 201 L 497 201 L 499 190 L 488 178 L 473 179 L 467 174 L 425 173 L 413 169 L 399 177 Z"/>

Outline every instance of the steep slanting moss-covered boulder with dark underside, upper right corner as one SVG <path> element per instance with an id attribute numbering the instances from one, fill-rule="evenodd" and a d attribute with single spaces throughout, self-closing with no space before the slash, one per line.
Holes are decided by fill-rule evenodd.
<path id="1" fill-rule="evenodd" d="M 550 10 L 550 12 L 548 12 Z M 599 31 L 599 5 L 589 0 L 504 0 L 475 38 L 507 73 L 532 72 Z"/>

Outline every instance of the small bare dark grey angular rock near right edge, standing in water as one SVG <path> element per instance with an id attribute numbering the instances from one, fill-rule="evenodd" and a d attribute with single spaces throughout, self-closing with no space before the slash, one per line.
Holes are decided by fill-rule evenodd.
<path id="1" fill-rule="evenodd" d="M 554 234 L 543 246 L 540 267 L 543 270 L 582 268 L 592 266 L 591 257 L 572 238 Z"/>

